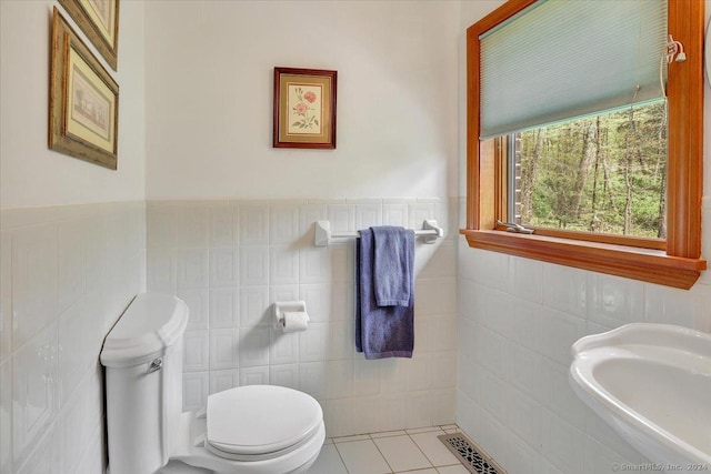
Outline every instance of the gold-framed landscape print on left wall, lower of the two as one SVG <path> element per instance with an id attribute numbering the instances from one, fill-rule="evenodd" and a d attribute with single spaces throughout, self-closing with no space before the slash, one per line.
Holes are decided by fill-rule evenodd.
<path id="1" fill-rule="evenodd" d="M 117 169 L 119 84 L 54 8 L 49 148 Z"/>

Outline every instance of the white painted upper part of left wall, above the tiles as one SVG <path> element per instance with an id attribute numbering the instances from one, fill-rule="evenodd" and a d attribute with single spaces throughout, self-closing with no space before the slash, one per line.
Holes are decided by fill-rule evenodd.
<path id="1" fill-rule="evenodd" d="M 118 72 L 103 63 L 120 87 L 118 171 L 48 148 L 53 6 L 59 3 L 0 2 L 0 208 L 142 200 L 143 4 L 121 4 Z"/>

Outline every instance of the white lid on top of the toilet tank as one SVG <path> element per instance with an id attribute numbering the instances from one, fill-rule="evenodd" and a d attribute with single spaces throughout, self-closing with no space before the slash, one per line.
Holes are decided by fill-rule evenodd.
<path id="1" fill-rule="evenodd" d="M 188 324 L 188 305 L 160 293 L 133 299 L 113 326 L 101 350 L 107 367 L 129 367 L 151 361 L 174 343 Z"/>

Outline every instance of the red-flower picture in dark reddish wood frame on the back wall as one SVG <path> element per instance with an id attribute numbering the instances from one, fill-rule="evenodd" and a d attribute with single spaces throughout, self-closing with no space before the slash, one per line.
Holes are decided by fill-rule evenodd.
<path id="1" fill-rule="evenodd" d="M 337 71 L 274 68 L 274 148 L 336 148 Z"/>

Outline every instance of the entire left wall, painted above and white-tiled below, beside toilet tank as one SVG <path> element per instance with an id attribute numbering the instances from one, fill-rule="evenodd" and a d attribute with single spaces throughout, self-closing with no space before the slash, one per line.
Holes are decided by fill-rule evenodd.
<path id="1" fill-rule="evenodd" d="M 104 471 L 99 352 L 146 288 L 143 4 L 121 3 L 118 171 L 48 150 L 54 6 L 0 1 L 2 474 Z"/>

